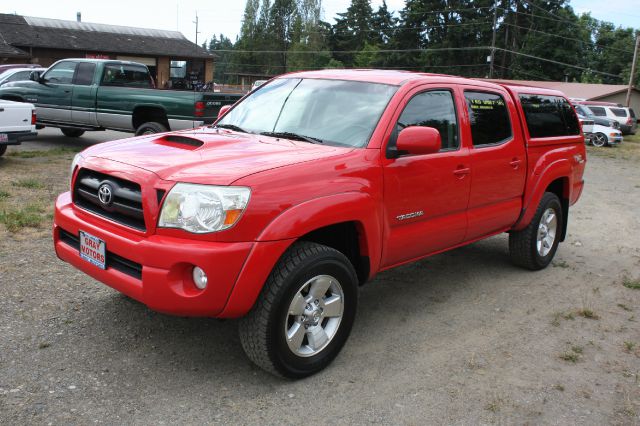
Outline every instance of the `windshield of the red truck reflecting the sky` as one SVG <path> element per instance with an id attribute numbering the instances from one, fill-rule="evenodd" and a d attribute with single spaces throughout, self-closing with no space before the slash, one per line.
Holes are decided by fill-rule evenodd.
<path id="1" fill-rule="evenodd" d="M 364 147 L 397 87 L 282 78 L 262 86 L 217 124 L 307 142 Z"/>

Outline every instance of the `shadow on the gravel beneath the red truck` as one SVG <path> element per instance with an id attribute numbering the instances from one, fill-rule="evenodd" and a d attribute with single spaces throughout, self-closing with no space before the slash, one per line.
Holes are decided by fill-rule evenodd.
<path id="1" fill-rule="evenodd" d="M 500 292 L 509 285 L 502 275 L 521 274 L 511 266 L 504 237 L 496 237 L 379 274 L 360 292 L 358 316 L 350 340 L 364 340 L 371 324 L 423 321 L 422 313 L 445 312 L 461 303 L 474 287 Z M 476 288 L 475 291 L 478 291 Z M 237 321 L 181 318 L 159 314 L 120 294 L 96 301 L 87 319 L 88 339 L 97 348 L 133 358 L 149 370 L 170 369 L 212 380 L 234 374 L 280 381 L 253 366 L 244 356 Z M 89 307 L 85 306 L 86 309 Z M 387 333 L 390 337 L 393 329 Z M 386 337 L 379 336 L 382 340 Z M 349 342 L 347 343 L 347 347 Z M 197 374 L 195 374 L 197 372 Z M 256 373 L 258 372 L 258 373 Z M 125 371 L 123 371 L 125 373 Z M 206 378 L 206 379 L 205 379 Z"/>

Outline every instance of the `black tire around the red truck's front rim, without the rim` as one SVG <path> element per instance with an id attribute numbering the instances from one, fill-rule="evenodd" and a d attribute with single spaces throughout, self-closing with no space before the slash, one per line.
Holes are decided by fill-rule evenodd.
<path id="1" fill-rule="evenodd" d="M 342 316 L 326 346 L 304 357 L 290 349 L 285 338 L 289 307 L 301 286 L 321 275 L 339 282 L 344 295 Z M 333 361 L 349 337 L 357 298 L 358 278 L 346 256 L 321 244 L 297 242 L 276 264 L 255 306 L 240 321 L 242 347 L 251 361 L 275 375 L 298 379 L 315 374 Z"/>

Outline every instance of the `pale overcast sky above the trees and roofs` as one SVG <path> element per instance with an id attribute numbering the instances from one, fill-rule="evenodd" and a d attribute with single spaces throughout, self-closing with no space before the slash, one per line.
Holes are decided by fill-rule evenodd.
<path id="1" fill-rule="evenodd" d="M 533 0 L 535 1 L 535 0 Z M 336 13 L 344 12 L 349 0 L 323 0 L 324 19 L 333 22 Z M 382 0 L 371 1 L 374 10 Z M 195 40 L 196 11 L 199 17 L 198 44 L 211 38 L 212 34 L 223 33 L 235 40 L 240 30 L 240 21 L 244 10 L 244 0 L 180 0 L 155 3 L 110 0 L 108 2 L 69 1 L 69 0 L 27 0 L 2 1 L 0 12 L 43 18 L 76 18 L 76 12 L 82 12 L 85 22 L 128 25 L 133 27 L 159 28 L 181 31 L 186 37 Z M 387 0 L 389 9 L 402 9 L 404 0 Z M 577 13 L 591 12 L 597 19 L 613 22 L 617 26 L 640 27 L 640 8 L 638 0 L 572 0 L 571 5 Z M 542 13 L 542 12 L 540 12 Z"/>

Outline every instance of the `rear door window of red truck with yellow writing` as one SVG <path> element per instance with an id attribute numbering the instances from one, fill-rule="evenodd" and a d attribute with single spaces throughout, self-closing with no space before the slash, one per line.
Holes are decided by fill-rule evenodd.
<path id="1" fill-rule="evenodd" d="M 494 145 L 511 137 L 511 122 L 504 98 L 496 93 L 465 92 L 474 147 Z"/>

